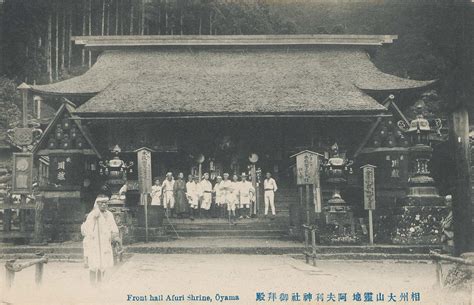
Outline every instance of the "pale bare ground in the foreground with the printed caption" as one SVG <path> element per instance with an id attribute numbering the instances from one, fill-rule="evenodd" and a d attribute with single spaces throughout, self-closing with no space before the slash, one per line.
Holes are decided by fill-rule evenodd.
<path id="1" fill-rule="evenodd" d="M 321 261 L 313 267 L 289 255 L 136 254 L 110 270 L 99 287 L 90 286 L 82 264 L 51 262 L 45 265 L 41 288 L 35 287 L 34 268 L 29 268 L 7 290 L 1 268 L 0 304 L 395 303 L 390 293 L 398 304 L 472 303 L 466 291 L 436 288 L 435 274 L 430 262 Z M 383 301 L 377 301 L 379 293 Z"/>

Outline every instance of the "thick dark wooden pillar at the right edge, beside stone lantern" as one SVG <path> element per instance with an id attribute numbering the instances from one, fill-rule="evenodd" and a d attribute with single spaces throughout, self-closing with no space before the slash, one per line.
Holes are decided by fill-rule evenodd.
<path id="1" fill-rule="evenodd" d="M 451 127 L 451 147 L 456 162 L 453 194 L 454 254 L 458 256 L 473 249 L 469 116 L 466 108 L 460 107 L 453 111 Z"/>

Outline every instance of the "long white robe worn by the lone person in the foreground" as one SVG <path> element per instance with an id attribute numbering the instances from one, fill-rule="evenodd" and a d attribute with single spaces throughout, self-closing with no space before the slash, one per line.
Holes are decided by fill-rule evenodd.
<path id="1" fill-rule="evenodd" d="M 96 218 L 96 211 L 97 209 L 93 209 L 81 226 L 84 240 L 87 240 L 87 243 L 84 243 L 84 256 L 87 256 L 89 270 L 105 271 L 114 265 L 112 236 L 118 235 L 119 230 L 112 212 L 100 212 Z"/>

